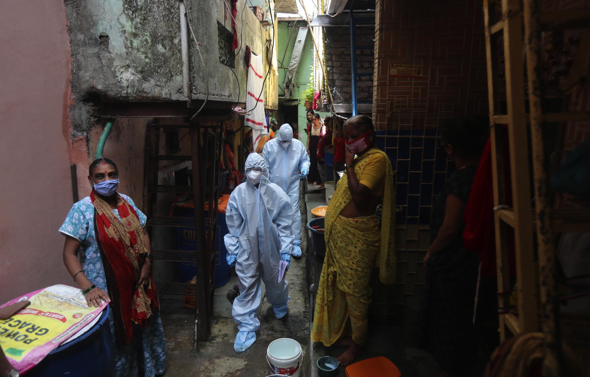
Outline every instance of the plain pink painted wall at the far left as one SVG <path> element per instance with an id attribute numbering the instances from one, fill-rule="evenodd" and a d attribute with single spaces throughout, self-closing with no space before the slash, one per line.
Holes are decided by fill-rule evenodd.
<path id="1" fill-rule="evenodd" d="M 4 2 L 0 12 L 0 303 L 73 283 L 57 232 L 73 200 L 70 51 L 63 0 Z"/>

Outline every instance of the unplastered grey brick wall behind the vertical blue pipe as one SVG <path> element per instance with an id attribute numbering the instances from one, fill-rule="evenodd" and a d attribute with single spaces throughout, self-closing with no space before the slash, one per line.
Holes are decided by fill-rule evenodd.
<path id="1" fill-rule="evenodd" d="M 336 104 L 352 102 L 352 76 L 350 75 L 350 28 L 324 28 L 326 34 L 325 64 L 330 88 L 340 93 L 334 95 Z M 365 74 L 373 72 L 373 27 L 356 27 L 356 73 L 363 74 L 356 80 L 358 103 L 371 103 L 373 100 L 373 77 Z"/>

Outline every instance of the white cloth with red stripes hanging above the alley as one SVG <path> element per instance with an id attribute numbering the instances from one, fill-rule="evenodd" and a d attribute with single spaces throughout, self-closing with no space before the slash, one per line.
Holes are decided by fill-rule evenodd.
<path id="1" fill-rule="evenodd" d="M 253 150 L 256 149 L 260 138 L 268 133 L 268 125 L 264 115 L 264 94 L 261 94 L 264 81 L 263 69 L 262 56 L 252 54 L 250 64 L 248 64 L 248 80 L 246 82 L 246 108 L 250 115 L 246 115 L 244 125 L 252 127 Z"/>

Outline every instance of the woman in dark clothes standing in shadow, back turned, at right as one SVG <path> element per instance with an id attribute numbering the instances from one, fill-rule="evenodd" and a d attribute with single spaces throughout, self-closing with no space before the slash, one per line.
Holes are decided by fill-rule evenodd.
<path id="1" fill-rule="evenodd" d="M 477 353 L 473 310 L 478 260 L 464 247 L 462 234 L 483 146 L 481 130 L 469 118 L 455 118 L 440 130 L 440 147 L 457 171 L 432 203 L 426 282 L 414 330 L 418 346 L 431 353 L 444 377 L 470 376 Z"/>

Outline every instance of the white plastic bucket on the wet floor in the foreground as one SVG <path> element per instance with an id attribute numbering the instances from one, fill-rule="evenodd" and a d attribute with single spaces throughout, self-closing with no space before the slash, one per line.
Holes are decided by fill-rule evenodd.
<path id="1" fill-rule="evenodd" d="M 297 340 L 273 340 L 266 349 L 266 359 L 273 373 L 295 377 L 301 374 L 301 345 Z"/>

